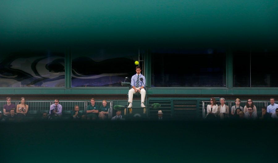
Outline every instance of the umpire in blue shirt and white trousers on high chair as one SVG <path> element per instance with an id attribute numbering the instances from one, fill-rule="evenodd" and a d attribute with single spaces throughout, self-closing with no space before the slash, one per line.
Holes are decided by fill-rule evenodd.
<path id="1" fill-rule="evenodd" d="M 141 107 L 145 108 L 146 106 L 144 105 L 145 101 L 145 96 L 146 96 L 146 91 L 145 91 L 145 85 L 146 85 L 146 79 L 145 77 L 141 74 L 141 67 L 136 66 L 135 68 L 136 74 L 132 76 L 131 78 L 131 89 L 128 91 L 128 108 L 132 108 L 132 101 L 133 101 L 133 94 L 136 92 L 139 92 L 141 94 Z M 140 78 L 143 80 L 141 81 Z"/>

